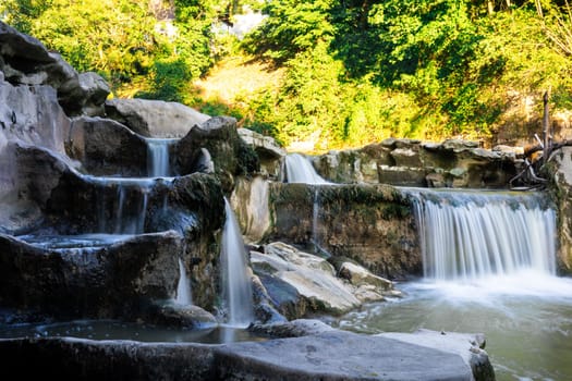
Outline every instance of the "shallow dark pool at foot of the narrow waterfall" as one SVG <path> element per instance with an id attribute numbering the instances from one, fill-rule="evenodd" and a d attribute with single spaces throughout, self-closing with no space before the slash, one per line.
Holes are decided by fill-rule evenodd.
<path id="1" fill-rule="evenodd" d="M 0 339 L 10 337 L 78 337 L 204 344 L 264 341 L 267 339 L 244 329 L 227 325 L 185 330 L 115 320 L 74 320 L 51 324 L 0 324 Z"/>

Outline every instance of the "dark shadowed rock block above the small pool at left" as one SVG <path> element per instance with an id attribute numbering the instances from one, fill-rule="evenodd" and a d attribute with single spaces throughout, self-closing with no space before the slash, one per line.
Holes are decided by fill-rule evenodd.
<path id="1" fill-rule="evenodd" d="M 0 300 L 59 318 L 133 319 L 141 306 L 174 295 L 179 266 L 172 254 L 182 245 L 174 232 L 66 248 L 0 235 Z"/>

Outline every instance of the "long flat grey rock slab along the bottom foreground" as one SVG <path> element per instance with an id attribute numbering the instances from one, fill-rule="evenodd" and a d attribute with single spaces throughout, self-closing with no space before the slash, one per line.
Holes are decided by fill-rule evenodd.
<path id="1" fill-rule="evenodd" d="M 476 337 L 438 332 L 326 330 L 224 345 L 11 339 L 0 340 L 0 355 L 7 372 L 33 377 L 41 367 L 74 380 L 495 380 Z"/>

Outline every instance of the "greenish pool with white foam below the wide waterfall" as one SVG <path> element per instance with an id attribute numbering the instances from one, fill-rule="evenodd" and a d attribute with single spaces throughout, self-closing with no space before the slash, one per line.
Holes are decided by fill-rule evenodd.
<path id="1" fill-rule="evenodd" d="M 497 380 L 572 380 L 572 279 L 409 283 L 407 296 L 330 322 L 364 332 L 485 333 Z"/>

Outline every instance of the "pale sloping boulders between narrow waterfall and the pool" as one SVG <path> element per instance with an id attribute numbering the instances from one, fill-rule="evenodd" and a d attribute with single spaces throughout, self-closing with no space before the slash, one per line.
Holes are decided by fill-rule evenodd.
<path id="1" fill-rule="evenodd" d="M 254 272 L 265 286 L 270 303 L 288 319 L 308 314 L 341 315 L 367 302 L 384 300 L 398 295 L 392 282 L 372 274 L 366 269 L 344 263 L 344 272 L 326 259 L 300 251 L 283 243 L 272 243 L 251 251 Z"/>

